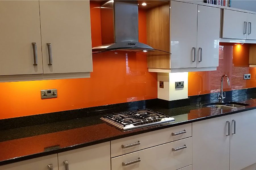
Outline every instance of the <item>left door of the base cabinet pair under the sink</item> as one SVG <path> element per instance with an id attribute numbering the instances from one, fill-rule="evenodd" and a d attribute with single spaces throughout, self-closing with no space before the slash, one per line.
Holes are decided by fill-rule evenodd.
<path id="1" fill-rule="evenodd" d="M 228 170 L 230 115 L 192 123 L 193 170 Z"/>

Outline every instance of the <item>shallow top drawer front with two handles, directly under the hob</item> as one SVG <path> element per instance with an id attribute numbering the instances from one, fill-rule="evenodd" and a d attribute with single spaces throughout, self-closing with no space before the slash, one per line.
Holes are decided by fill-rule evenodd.
<path id="1" fill-rule="evenodd" d="M 190 123 L 117 139 L 111 141 L 111 158 L 191 136 Z"/>

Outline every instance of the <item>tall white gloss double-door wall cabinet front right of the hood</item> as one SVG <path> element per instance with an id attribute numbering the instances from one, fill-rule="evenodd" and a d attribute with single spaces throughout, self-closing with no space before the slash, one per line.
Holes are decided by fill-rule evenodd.
<path id="1" fill-rule="evenodd" d="M 170 20 L 171 70 L 216 70 L 220 8 L 171 1 Z"/>

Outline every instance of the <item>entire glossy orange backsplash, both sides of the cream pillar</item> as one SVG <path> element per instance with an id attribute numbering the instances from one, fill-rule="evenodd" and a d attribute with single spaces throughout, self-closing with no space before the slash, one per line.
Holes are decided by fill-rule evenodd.
<path id="1" fill-rule="evenodd" d="M 101 44 L 99 3 L 90 2 L 92 46 Z M 139 10 L 139 41 L 146 43 L 146 12 Z M 220 44 L 217 71 L 191 72 L 188 95 L 207 94 L 220 89 L 226 73 L 231 86 L 224 90 L 256 87 L 256 68 L 249 68 L 249 44 Z M 251 73 L 251 80 L 243 74 Z M 41 89 L 58 89 L 55 99 L 40 98 Z M 147 58 L 134 52 L 94 54 L 91 78 L 0 83 L 0 119 L 28 116 L 157 98 L 157 73 L 149 73 Z"/>

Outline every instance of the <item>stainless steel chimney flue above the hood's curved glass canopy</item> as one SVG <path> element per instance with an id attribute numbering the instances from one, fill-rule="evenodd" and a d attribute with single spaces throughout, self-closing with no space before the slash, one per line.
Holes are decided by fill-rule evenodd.
<path id="1" fill-rule="evenodd" d="M 104 1 L 100 9 L 102 44 L 138 42 L 137 1 Z"/>

